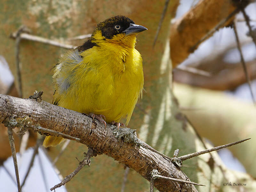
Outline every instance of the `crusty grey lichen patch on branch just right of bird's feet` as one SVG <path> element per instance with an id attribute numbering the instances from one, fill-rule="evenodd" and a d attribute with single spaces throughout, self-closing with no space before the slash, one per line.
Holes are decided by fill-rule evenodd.
<path id="1" fill-rule="evenodd" d="M 118 140 L 124 140 L 126 143 L 133 143 L 137 146 L 140 146 L 140 140 L 137 137 L 136 129 L 130 128 L 119 128 L 113 131 Z"/>

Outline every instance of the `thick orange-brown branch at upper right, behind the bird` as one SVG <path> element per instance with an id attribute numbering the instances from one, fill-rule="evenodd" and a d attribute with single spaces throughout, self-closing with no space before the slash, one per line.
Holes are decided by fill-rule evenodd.
<path id="1" fill-rule="evenodd" d="M 201 0 L 184 16 L 171 26 L 170 50 L 172 66 L 175 68 L 188 55 L 196 50 L 197 44 L 209 31 L 215 28 L 221 20 L 225 20 L 236 10 L 232 0 Z M 243 1 L 243 6 L 250 1 Z M 237 11 L 238 12 L 238 11 Z M 224 22 L 223 27 L 234 19 L 234 15 Z M 208 36 L 211 37 L 213 34 Z M 206 39 L 207 39 L 206 38 Z"/>

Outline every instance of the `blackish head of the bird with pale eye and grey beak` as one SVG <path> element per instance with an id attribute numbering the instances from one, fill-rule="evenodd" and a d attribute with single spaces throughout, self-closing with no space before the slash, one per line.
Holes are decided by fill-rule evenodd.
<path id="1" fill-rule="evenodd" d="M 117 15 L 100 22 L 94 33 L 101 31 L 101 35 L 106 39 L 112 39 L 118 34 L 131 35 L 137 34 L 141 31 L 147 30 L 147 28 L 135 25 L 133 20 L 123 15 Z"/>

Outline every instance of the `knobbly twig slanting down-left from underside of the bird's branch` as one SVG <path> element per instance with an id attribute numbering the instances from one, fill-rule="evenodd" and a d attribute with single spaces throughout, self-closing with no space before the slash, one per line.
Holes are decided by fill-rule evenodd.
<path id="1" fill-rule="evenodd" d="M 55 185 L 54 187 L 50 188 L 50 190 L 55 190 L 56 188 L 61 187 L 62 185 L 65 185 L 68 181 L 70 181 L 85 165 L 90 166 L 91 160 L 90 158 L 92 156 L 94 156 L 94 150 L 92 148 L 88 148 L 88 152 L 86 154 L 86 156 L 84 157 L 84 160 L 81 161 L 79 163 L 79 165 L 77 166 L 77 168 L 70 173 L 69 175 L 67 175 L 59 184 Z"/>

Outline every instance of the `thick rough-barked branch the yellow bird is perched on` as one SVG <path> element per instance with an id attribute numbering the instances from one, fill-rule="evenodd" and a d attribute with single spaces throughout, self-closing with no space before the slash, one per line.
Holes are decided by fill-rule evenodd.
<path id="1" fill-rule="evenodd" d="M 111 156 L 116 161 L 134 169 L 148 181 L 150 181 L 150 172 L 153 169 L 165 177 L 187 179 L 169 159 L 143 147 L 147 144 L 137 138 L 134 130 L 129 128 L 117 130 L 116 126 L 109 124 L 105 128 L 98 120 L 92 121 L 91 117 L 76 111 L 45 101 L 40 102 L 38 98 L 20 99 L 0 95 L 0 122 L 17 127 L 23 123 L 20 126 L 21 131 L 30 128 L 46 135 L 62 133 L 64 138 L 76 140 L 100 153 Z M 52 132 L 45 133 L 40 127 Z M 159 191 L 182 190 L 182 188 L 187 191 L 197 191 L 194 185 L 173 182 L 164 178 L 155 179 L 154 186 Z"/>

